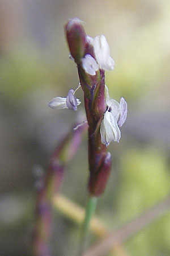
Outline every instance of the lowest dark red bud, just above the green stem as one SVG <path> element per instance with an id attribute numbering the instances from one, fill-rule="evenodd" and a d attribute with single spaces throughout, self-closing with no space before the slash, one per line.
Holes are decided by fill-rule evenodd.
<path id="1" fill-rule="evenodd" d="M 109 174 L 111 172 L 111 153 L 107 152 L 103 162 L 96 173 L 91 172 L 88 188 L 92 196 L 100 196 L 107 185 Z"/>

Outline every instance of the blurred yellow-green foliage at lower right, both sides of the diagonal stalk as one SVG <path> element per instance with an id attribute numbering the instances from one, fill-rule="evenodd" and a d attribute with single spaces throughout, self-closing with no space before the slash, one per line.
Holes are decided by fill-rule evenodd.
<path id="1" fill-rule="evenodd" d="M 167 159 L 155 148 L 131 149 L 121 159 L 121 184 L 118 191 L 118 217 L 126 222 L 163 200 L 169 193 Z M 148 226 L 127 242 L 130 255 L 168 255 L 170 216 Z"/>

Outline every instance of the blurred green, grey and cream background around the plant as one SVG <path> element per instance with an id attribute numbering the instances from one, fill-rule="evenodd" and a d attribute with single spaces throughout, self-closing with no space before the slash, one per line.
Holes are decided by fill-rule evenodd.
<path id="1" fill-rule="evenodd" d="M 112 174 L 96 214 L 116 230 L 169 193 L 170 4 L 167 0 L 6 0 L 0 7 L 0 255 L 30 256 L 35 210 L 32 170 L 49 157 L 79 113 L 48 102 L 76 88 L 78 75 L 63 32 L 69 18 L 88 35 L 104 34 L 115 60 L 106 72 L 111 97 L 128 102 Z M 77 96 L 83 101 L 81 90 Z M 86 202 L 87 135 L 67 166 L 63 195 Z M 56 210 L 54 255 L 75 255 L 78 228 Z M 128 255 L 170 255 L 170 215 L 124 244 Z"/>

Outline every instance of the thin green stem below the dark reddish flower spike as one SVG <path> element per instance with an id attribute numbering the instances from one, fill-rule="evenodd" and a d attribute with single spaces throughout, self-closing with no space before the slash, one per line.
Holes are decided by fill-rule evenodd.
<path id="1" fill-rule="evenodd" d="M 87 238 L 88 238 L 88 230 L 90 228 L 91 217 L 95 212 L 96 202 L 97 202 L 97 197 L 95 197 L 95 196 L 88 197 L 84 222 L 83 222 L 82 230 L 81 230 L 81 234 L 80 234 L 80 249 L 79 249 L 78 256 L 82 255 L 82 253 L 86 247 Z"/>

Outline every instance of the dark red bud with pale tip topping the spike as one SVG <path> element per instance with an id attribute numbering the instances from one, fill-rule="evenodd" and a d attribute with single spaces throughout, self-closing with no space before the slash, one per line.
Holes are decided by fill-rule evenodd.
<path id="1" fill-rule="evenodd" d="M 82 21 L 78 18 L 70 19 L 65 26 L 67 42 L 71 56 L 76 63 L 84 57 L 86 49 L 86 33 L 82 26 Z"/>

